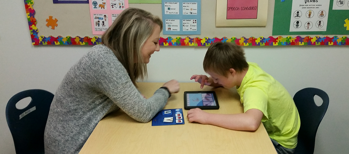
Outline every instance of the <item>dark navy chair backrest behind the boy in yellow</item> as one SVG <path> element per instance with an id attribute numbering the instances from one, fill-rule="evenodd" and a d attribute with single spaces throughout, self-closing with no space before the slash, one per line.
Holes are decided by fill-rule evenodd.
<path id="1" fill-rule="evenodd" d="M 321 106 L 315 104 L 315 95 L 322 99 Z M 293 100 L 300 117 L 298 144 L 295 154 L 313 154 L 316 132 L 327 111 L 328 95 L 318 88 L 304 88 L 295 94 Z"/>

